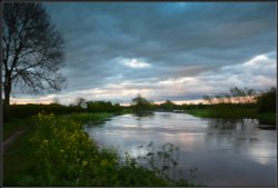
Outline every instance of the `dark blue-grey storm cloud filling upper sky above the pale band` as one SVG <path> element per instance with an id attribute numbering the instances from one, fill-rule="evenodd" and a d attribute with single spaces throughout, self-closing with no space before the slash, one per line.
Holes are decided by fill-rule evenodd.
<path id="1" fill-rule="evenodd" d="M 66 39 L 64 93 L 125 80 L 193 77 L 276 51 L 276 4 L 270 2 L 44 6 Z M 132 59 L 148 66 L 121 63 Z"/>

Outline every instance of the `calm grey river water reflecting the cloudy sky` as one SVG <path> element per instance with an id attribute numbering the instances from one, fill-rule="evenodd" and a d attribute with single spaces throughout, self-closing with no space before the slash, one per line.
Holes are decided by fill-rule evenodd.
<path id="1" fill-rule="evenodd" d="M 153 112 L 116 116 L 100 127 L 86 126 L 91 138 L 132 157 L 171 142 L 179 146 L 178 177 L 206 186 L 276 186 L 276 130 L 258 128 L 251 119 L 225 121 L 186 113 Z M 142 162 L 143 164 L 143 162 Z"/>

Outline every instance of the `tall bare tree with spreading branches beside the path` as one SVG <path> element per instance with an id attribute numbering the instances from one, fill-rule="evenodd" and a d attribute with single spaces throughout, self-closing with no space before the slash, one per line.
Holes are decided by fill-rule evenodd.
<path id="1" fill-rule="evenodd" d="M 4 108 L 11 91 L 31 93 L 61 90 L 66 79 L 63 38 L 40 3 L 4 3 L 2 17 L 2 87 Z"/>

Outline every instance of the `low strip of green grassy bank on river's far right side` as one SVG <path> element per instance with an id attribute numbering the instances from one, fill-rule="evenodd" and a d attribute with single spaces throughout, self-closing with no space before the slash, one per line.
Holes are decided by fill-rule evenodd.
<path id="1" fill-rule="evenodd" d="M 186 110 L 186 113 L 200 118 L 221 118 L 221 119 L 240 119 L 251 118 L 258 119 L 260 123 L 276 125 L 276 113 L 258 113 L 255 109 L 191 109 Z"/>

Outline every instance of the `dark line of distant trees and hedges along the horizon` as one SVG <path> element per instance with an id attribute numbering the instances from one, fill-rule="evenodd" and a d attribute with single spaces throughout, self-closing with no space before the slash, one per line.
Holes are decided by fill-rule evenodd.
<path id="1" fill-rule="evenodd" d="M 219 97 L 220 96 L 220 97 Z M 255 92 L 250 89 L 232 88 L 230 93 L 205 96 L 207 103 L 183 103 L 177 105 L 171 100 L 158 105 L 141 95 L 131 100 L 128 107 L 112 103 L 111 101 L 87 101 L 83 98 L 77 98 L 70 106 L 58 103 L 50 105 L 11 105 L 10 111 L 13 118 L 26 118 L 38 115 L 38 112 L 52 112 L 56 115 L 66 115 L 73 112 L 146 112 L 146 111 L 173 111 L 173 110 L 193 110 L 212 109 L 217 115 L 230 116 L 231 113 L 241 113 L 246 116 L 246 110 L 259 113 L 276 111 L 276 88 L 270 88 L 264 92 Z M 218 102 L 216 102 L 218 100 Z"/>

